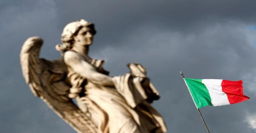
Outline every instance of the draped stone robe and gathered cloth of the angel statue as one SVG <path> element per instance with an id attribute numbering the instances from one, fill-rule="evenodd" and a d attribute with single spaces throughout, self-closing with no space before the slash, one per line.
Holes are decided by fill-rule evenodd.
<path id="1" fill-rule="evenodd" d="M 97 61 L 95 63 L 97 64 Z M 102 66 L 101 63 L 98 65 L 95 63 L 91 64 L 97 68 Z M 68 78 L 72 79 L 73 86 L 79 87 L 84 84 L 85 95 L 76 100 L 80 109 L 87 113 L 98 127 L 98 132 L 163 133 L 167 131 L 163 118 L 148 102 L 151 97 L 158 97 L 158 92 L 151 83 L 148 84 L 149 86 L 143 86 L 142 77 L 131 74 L 114 77 L 113 87 L 100 86 L 89 81 L 82 83 L 86 79 L 74 71 L 69 72 Z"/>

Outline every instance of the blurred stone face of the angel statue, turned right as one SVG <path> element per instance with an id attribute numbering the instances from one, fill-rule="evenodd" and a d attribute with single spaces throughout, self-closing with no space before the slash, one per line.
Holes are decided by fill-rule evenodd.
<path id="1" fill-rule="evenodd" d="M 93 34 L 92 30 L 89 27 L 82 27 L 78 34 L 74 37 L 75 44 L 79 45 L 90 45 L 93 43 Z"/>

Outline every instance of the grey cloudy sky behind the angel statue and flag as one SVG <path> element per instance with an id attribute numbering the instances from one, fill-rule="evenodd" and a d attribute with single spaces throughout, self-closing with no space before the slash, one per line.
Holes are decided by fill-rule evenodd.
<path id="1" fill-rule="evenodd" d="M 110 75 L 140 62 L 158 88 L 153 106 L 168 133 L 205 133 L 179 74 L 189 78 L 244 81 L 251 99 L 203 107 L 211 133 L 256 132 L 255 0 L 1 0 L 0 132 L 75 133 L 22 77 L 19 52 L 30 36 L 45 44 L 41 57 L 60 56 L 55 45 L 64 26 L 78 19 L 95 23 L 90 56 L 105 59 Z"/>

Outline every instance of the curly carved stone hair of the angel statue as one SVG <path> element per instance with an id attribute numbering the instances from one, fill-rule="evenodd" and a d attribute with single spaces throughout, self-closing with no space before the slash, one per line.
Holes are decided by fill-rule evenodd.
<path id="1" fill-rule="evenodd" d="M 79 30 L 82 27 L 89 27 L 92 31 L 92 34 L 96 34 L 93 23 L 89 23 L 84 19 L 71 22 L 64 27 L 63 32 L 61 34 L 61 42 L 63 44 L 57 44 L 56 50 L 60 51 L 61 54 L 63 54 L 65 51 L 70 50 L 75 42 L 74 36 L 78 34 Z"/>

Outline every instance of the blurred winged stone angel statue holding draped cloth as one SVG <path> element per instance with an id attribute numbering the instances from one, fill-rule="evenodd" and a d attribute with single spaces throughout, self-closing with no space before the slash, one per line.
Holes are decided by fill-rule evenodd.
<path id="1" fill-rule="evenodd" d="M 109 76 L 103 60 L 88 55 L 94 24 L 78 20 L 65 26 L 56 60 L 39 58 L 43 40 L 30 37 L 20 63 L 26 83 L 78 133 L 165 133 L 165 122 L 150 105 L 159 93 L 138 63 L 129 73 Z M 75 99 L 76 102 L 73 102 Z"/>

